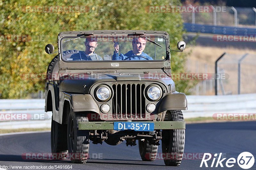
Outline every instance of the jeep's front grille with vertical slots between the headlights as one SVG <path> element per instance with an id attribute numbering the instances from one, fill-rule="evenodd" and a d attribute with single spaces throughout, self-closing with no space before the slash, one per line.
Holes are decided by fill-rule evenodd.
<path id="1" fill-rule="evenodd" d="M 113 118 L 141 118 L 145 115 L 145 85 L 139 83 L 118 83 L 112 85 Z"/>

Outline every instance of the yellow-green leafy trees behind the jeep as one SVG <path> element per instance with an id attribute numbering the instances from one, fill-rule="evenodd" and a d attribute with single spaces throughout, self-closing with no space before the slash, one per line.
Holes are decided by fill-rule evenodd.
<path id="1" fill-rule="evenodd" d="M 53 55 L 47 55 L 44 46 L 52 43 L 57 47 L 57 35 L 62 31 L 156 28 L 170 34 L 171 48 L 176 49 L 184 33 L 181 15 L 148 11 L 149 6 L 171 5 L 181 4 L 179 0 L 0 1 L 0 98 L 26 98 L 44 89 L 44 80 L 31 79 L 31 74 L 46 73 Z M 58 6 L 59 11 L 42 12 L 49 10 L 49 6 Z M 72 6 L 84 7 L 85 11 L 64 11 L 64 7 Z M 171 57 L 172 72 L 183 72 L 184 54 L 172 53 Z M 186 81 L 176 86 L 182 92 L 187 87 Z"/>

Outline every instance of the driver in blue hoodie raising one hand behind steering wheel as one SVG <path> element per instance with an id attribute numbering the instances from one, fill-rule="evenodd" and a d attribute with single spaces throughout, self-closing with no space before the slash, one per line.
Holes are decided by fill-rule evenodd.
<path id="1" fill-rule="evenodd" d="M 114 51 L 114 54 L 112 55 L 112 60 L 125 60 L 127 57 L 129 57 L 127 60 L 153 60 L 152 57 L 150 57 L 146 53 L 143 53 L 143 50 L 146 47 L 146 42 L 147 40 L 145 38 L 134 37 L 132 39 L 132 50 L 128 51 L 126 54 L 120 54 L 120 55 L 118 55 L 119 44 L 115 42 L 114 44 L 115 51 Z M 144 57 L 140 57 L 138 55 L 144 56 Z"/>

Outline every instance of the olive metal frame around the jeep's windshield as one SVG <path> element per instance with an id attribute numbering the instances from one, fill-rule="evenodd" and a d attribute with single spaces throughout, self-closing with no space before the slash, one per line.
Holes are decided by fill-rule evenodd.
<path id="1" fill-rule="evenodd" d="M 169 34 L 165 31 L 142 31 L 145 33 L 145 36 L 153 37 L 159 36 L 165 41 L 165 51 L 166 56 L 163 60 L 102 60 L 102 61 L 66 61 L 62 59 L 62 42 L 66 38 L 76 38 L 90 32 L 88 34 L 93 36 L 129 36 L 136 34 L 138 30 L 97 30 L 97 31 L 75 31 L 75 32 L 61 32 L 58 35 L 58 50 L 59 54 L 59 68 L 72 68 L 72 69 L 96 69 L 95 66 L 99 69 L 128 69 L 128 68 L 159 68 L 159 67 L 170 67 L 170 49 L 169 49 Z M 139 30 L 140 31 L 140 30 Z M 119 32 L 119 33 L 116 33 Z M 141 32 L 141 31 L 140 31 Z M 85 36 L 86 38 L 86 36 Z M 76 40 L 73 40 L 76 41 Z M 152 42 L 148 42 L 152 43 Z M 163 46 L 164 48 L 164 46 Z M 113 48 L 114 51 L 114 48 Z M 152 62 L 157 64 L 152 64 Z M 94 64 L 95 63 L 95 64 Z M 118 66 L 112 66 L 112 63 L 117 63 Z M 122 64 L 124 63 L 124 64 Z M 127 64 L 131 63 L 131 64 Z M 94 66 L 93 66 L 94 65 Z M 129 65 L 129 66 L 127 66 Z M 132 66 L 132 67 L 131 67 Z M 97 70 L 97 69 L 96 69 Z"/>

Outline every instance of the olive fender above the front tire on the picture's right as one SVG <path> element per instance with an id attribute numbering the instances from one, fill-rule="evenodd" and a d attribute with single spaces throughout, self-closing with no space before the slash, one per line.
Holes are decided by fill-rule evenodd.
<path id="1" fill-rule="evenodd" d="M 188 110 L 186 95 L 180 92 L 173 92 L 165 95 L 158 107 L 158 113 L 167 110 Z"/>

